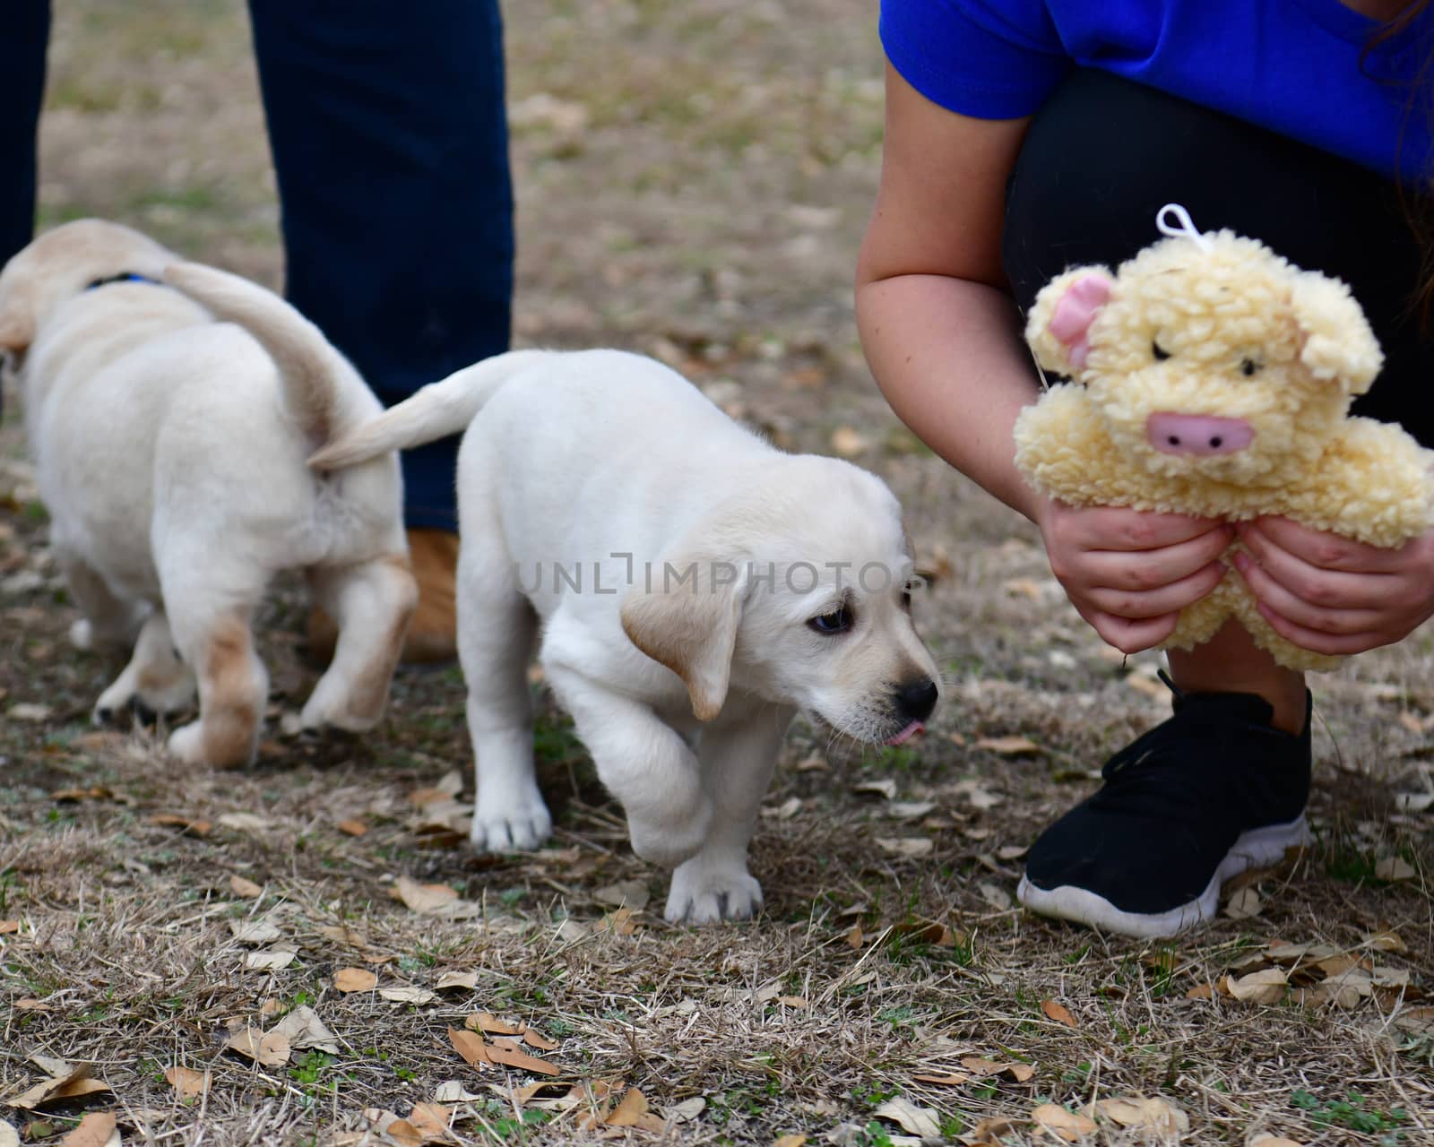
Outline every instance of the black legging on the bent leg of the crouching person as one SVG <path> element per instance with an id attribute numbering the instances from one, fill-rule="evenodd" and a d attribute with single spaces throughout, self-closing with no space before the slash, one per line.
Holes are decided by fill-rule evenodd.
<path id="1" fill-rule="evenodd" d="M 1385 354 L 1355 413 L 1434 444 L 1434 337 L 1411 310 L 1420 251 L 1394 184 L 1152 87 L 1080 70 L 1037 113 L 1007 194 L 1017 304 L 1028 310 L 1067 267 L 1114 268 L 1149 247 L 1170 202 L 1200 231 L 1229 228 L 1349 284 Z"/>

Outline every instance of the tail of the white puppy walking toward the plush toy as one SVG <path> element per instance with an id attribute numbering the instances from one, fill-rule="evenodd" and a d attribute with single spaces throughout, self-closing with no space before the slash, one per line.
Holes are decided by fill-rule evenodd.
<path id="1" fill-rule="evenodd" d="M 328 443 L 310 456 L 308 465 L 315 470 L 337 470 L 389 450 L 406 450 L 466 430 L 503 383 L 538 360 L 559 353 L 512 350 L 463 367 Z"/>

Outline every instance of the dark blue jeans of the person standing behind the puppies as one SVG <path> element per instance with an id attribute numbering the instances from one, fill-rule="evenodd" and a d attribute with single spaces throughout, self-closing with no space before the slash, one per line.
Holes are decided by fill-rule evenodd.
<path id="1" fill-rule="evenodd" d="M 384 403 L 508 348 L 513 206 L 498 0 L 250 0 L 290 301 Z M 0 33 L 0 260 L 30 238 L 49 0 Z M 456 529 L 455 439 L 403 462 Z"/>

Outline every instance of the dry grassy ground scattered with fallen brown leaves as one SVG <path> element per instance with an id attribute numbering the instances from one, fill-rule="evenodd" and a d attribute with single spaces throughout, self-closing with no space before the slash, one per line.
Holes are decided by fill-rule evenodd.
<path id="1" fill-rule="evenodd" d="M 277 285 L 242 4 L 56 7 L 42 222 L 122 219 Z M 1315 844 L 1229 889 L 1217 923 L 1143 943 L 1024 915 L 1024 847 L 1166 698 L 1154 658 L 1108 657 L 1032 530 L 918 449 L 862 363 L 875 6 L 526 0 L 508 20 L 518 341 L 658 354 L 780 443 L 883 475 L 938 575 L 919 604 L 948 678 L 935 727 L 860 753 L 799 725 L 754 842 L 766 913 L 706 931 L 663 923 L 664 876 L 551 703 L 558 833 L 535 856 L 475 857 L 453 832 L 457 670 L 403 672 L 374 736 L 282 737 L 314 681 L 291 589 L 261 619 L 260 763 L 181 771 L 152 731 L 89 724 L 116 667 L 65 641 L 11 396 L 0 1144 L 112 1125 L 163 1144 L 1434 1141 L 1430 634 L 1314 682 Z M 495 1018 L 531 1025 L 542 1062 Z M 46 1084 L 70 1070 L 87 1082 Z"/>

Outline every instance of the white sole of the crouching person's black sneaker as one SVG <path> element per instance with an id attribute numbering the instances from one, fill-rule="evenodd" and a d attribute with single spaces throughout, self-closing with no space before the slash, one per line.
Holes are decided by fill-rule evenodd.
<path id="1" fill-rule="evenodd" d="M 1154 939 L 1174 936 L 1215 916 L 1220 905 L 1220 885 L 1249 869 L 1273 865 L 1283 859 L 1285 849 L 1309 843 L 1309 824 L 1304 814 L 1288 824 L 1266 824 L 1240 836 L 1230 847 L 1196 899 L 1169 912 L 1144 915 L 1123 912 L 1104 896 L 1090 889 L 1060 885 L 1058 887 L 1037 887 L 1024 876 L 1015 898 L 1038 916 L 1054 916 L 1061 920 L 1098 928 L 1103 932 L 1119 932 L 1124 936 Z"/>

